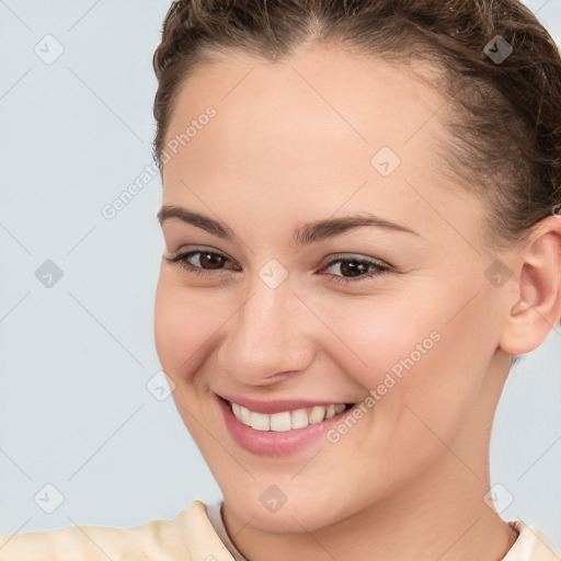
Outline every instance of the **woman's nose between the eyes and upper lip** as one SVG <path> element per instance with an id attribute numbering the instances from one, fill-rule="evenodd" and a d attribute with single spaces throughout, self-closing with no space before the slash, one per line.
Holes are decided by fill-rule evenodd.
<path id="1" fill-rule="evenodd" d="M 220 371 L 248 386 L 270 386 L 306 370 L 316 355 L 313 322 L 286 279 L 271 288 L 257 275 L 227 323 Z"/>

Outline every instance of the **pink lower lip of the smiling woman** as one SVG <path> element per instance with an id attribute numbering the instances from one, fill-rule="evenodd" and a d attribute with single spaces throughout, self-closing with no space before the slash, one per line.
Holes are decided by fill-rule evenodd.
<path id="1" fill-rule="evenodd" d="M 279 457 L 296 454 L 324 436 L 330 428 L 341 422 L 346 412 L 344 411 L 331 419 L 324 419 L 321 423 L 308 425 L 304 428 L 293 428 L 284 432 L 256 431 L 239 421 L 224 399 L 218 398 L 218 402 L 232 438 L 242 448 L 257 456 Z"/>

